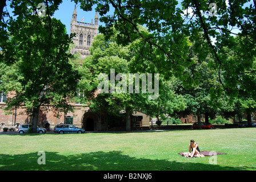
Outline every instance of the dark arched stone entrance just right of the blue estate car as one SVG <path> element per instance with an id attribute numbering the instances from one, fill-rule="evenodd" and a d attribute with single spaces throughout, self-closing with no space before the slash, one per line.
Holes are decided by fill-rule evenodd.
<path id="1" fill-rule="evenodd" d="M 94 112 L 87 112 L 83 115 L 82 127 L 85 131 L 98 130 L 99 115 Z"/>

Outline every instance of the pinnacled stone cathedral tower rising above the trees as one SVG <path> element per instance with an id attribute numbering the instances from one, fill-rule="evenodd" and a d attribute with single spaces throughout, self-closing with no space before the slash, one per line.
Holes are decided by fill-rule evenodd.
<path id="1" fill-rule="evenodd" d="M 84 59 L 87 55 L 90 55 L 89 48 L 95 36 L 98 35 L 98 13 L 96 12 L 94 18 L 91 19 L 91 23 L 84 23 L 77 21 L 77 10 L 74 9 L 72 20 L 70 23 L 70 34 L 75 33 L 73 42 L 75 47 L 71 48 L 70 53 L 81 53 L 81 58 Z"/>

